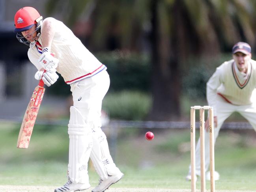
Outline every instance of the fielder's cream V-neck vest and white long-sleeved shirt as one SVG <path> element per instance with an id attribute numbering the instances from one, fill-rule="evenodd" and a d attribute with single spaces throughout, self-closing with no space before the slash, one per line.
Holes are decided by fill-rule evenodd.
<path id="1" fill-rule="evenodd" d="M 250 60 L 247 73 L 238 70 L 234 60 L 222 63 L 207 82 L 207 101 L 217 114 L 216 99 L 220 95 L 234 105 L 252 104 L 256 100 L 256 61 Z"/>

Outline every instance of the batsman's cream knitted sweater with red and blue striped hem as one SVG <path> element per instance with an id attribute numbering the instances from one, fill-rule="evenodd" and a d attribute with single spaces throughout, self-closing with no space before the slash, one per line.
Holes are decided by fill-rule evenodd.
<path id="1" fill-rule="evenodd" d="M 67 84 L 72 84 L 107 69 L 105 65 L 99 62 L 99 60 L 84 47 L 81 41 L 63 22 L 52 17 L 46 18 L 45 20 L 47 19 L 50 19 L 55 26 L 51 52 L 54 53 L 54 57 L 60 60 L 56 70 Z M 43 24 L 41 27 L 43 28 Z M 38 42 L 42 45 L 41 36 Z M 37 46 L 35 44 L 30 45 L 28 58 L 38 70 L 42 68 L 38 62 L 40 56 L 41 53 Z"/>

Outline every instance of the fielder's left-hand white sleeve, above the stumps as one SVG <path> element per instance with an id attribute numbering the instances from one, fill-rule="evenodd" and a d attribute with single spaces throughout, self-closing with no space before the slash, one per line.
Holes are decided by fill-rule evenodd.
<path id="1" fill-rule="evenodd" d="M 216 107 L 216 99 L 217 99 L 217 89 L 222 84 L 222 75 L 221 75 L 221 67 L 217 67 L 215 73 L 209 78 L 206 86 L 206 99 L 209 106 L 213 107 L 213 114 L 216 116 L 217 107 Z"/>

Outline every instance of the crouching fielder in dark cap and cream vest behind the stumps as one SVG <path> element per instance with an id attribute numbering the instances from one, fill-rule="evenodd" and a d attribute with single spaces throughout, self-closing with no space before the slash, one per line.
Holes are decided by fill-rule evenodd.
<path id="1" fill-rule="evenodd" d="M 252 60 L 251 47 L 238 42 L 232 48 L 233 59 L 222 63 L 207 82 L 207 102 L 214 110 L 214 137 L 233 112 L 238 112 L 256 130 L 256 61 Z M 205 122 L 205 166 L 209 168 L 209 119 Z M 200 176 L 200 139 L 196 145 L 196 175 Z M 208 178 L 207 178 L 208 177 Z M 186 177 L 191 180 L 191 167 Z M 209 180 L 209 171 L 206 173 Z M 219 173 L 215 171 L 215 180 Z"/>

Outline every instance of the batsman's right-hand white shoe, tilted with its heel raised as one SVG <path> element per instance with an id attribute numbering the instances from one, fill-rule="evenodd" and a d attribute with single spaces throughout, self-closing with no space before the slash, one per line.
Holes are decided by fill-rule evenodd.
<path id="1" fill-rule="evenodd" d="M 118 173 L 117 175 L 112 175 L 112 176 L 109 176 L 108 179 L 106 180 L 101 180 L 99 179 L 99 185 L 96 186 L 92 192 L 103 192 L 105 191 L 106 189 L 108 189 L 108 187 L 116 182 L 118 182 L 120 179 L 122 179 L 123 177 L 123 173 Z"/>

